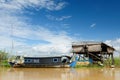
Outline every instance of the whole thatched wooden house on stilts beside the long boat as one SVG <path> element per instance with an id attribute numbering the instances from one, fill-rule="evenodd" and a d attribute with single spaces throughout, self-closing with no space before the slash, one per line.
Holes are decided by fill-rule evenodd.
<path id="1" fill-rule="evenodd" d="M 78 62 L 114 65 L 115 49 L 103 42 L 73 42 L 72 52 L 77 56 Z"/>

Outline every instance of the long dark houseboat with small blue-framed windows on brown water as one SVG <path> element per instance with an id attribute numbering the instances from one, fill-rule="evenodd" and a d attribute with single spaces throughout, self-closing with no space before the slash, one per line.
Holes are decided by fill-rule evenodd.
<path id="1" fill-rule="evenodd" d="M 9 61 L 14 68 L 37 68 L 37 67 L 70 67 L 69 56 L 52 56 L 52 57 L 22 57 L 16 56 L 16 59 Z"/>

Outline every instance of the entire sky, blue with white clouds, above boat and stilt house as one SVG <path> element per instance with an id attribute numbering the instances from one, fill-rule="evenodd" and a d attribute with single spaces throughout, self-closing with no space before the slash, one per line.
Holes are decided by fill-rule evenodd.
<path id="1" fill-rule="evenodd" d="M 0 0 L 0 50 L 66 55 L 71 54 L 72 42 L 102 41 L 120 51 L 119 4 L 119 0 Z"/>

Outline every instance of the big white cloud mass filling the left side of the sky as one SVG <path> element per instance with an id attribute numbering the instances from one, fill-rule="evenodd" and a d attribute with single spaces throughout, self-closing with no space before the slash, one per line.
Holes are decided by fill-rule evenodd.
<path id="1" fill-rule="evenodd" d="M 55 32 L 43 26 L 30 25 L 26 22 L 26 19 L 29 20 L 29 18 L 18 16 L 27 7 L 60 10 L 65 4 L 65 2 L 56 3 L 54 0 L 0 0 L 0 49 L 10 51 L 12 41 L 14 41 L 14 52 L 18 52 L 18 54 L 69 53 L 73 39 L 66 32 Z M 67 18 L 70 16 L 63 16 L 58 20 Z M 48 44 L 34 44 L 34 42 L 29 42 L 30 40 L 46 41 Z"/>

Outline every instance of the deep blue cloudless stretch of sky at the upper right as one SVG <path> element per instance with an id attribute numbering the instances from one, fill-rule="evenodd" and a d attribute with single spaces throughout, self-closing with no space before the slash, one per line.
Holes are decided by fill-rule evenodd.
<path id="1" fill-rule="evenodd" d="M 33 25 L 42 25 L 50 30 L 65 30 L 71 36 L 79 35 L 82 39 L 100 40 L 119 37 L 120 5 L 118 0 L 65 0 L 66 5 L 59 11 L 46 9 L 25 9 Z M 69 19 L 52 20 L 47 16 Z M 93 25 L 91 27 L 91 25 Z"/>

